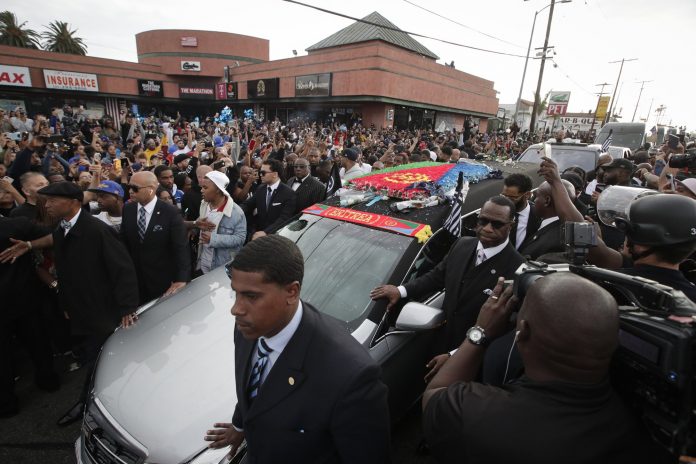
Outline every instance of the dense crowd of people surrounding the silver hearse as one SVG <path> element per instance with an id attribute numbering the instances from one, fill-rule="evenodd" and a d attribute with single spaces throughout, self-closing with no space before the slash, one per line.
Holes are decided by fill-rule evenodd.
<path id="1" fill-rule="evenodd" d="M 470 122 L 461 131 L 437 133 L 356 121 L 284 124 L 124 112 L 116 129 L 108 117 L 94 121 L 68 106 L 61 117 L 57 110 L 33 120 L 22 109 L 14 113 L 0 115 L 0 416 L 20 407 L 13 392 L 15 340 L 30 354 L 36 385 L 54 391 L 60 387 L 54 355 L 72 353 L 75 368 L 92 368 L 113 330 L 137 323 L 140 305 L 231 263 L 231 285 L 243 296 L 232 310 L 235 343 L 247 353 L 243 359 L 237 350 L 237 369 L 250 376 L 248 382 L 237 376 L 237 390 L 248 398 L 240 399 L 232 422 L 217 424 L 206 439 L 213 447 L 237 447 L 246 438 L 248 452 L 260 462 L 282 454 L 267 446 L 274 437 L 247 421 L 249 410 L 261 401 L 255 397 L 263 395 L 260 386 L 279 352 L 296 343 L 291 335 L 310 330 L 305 325 L 333 334 L 333 340 L 322 338 L 332 346 L 337 337 L 346 339 L 335 359 L 315 355 L 309 363 L 322 370 L 345 365 L 345 375 L 328 384 L 307 380 L 307 398 L 316 404 L 324 396 L 325 407 L 316 406 L 313 420 L 328 431 L 306 439 L 311 450 L 293 449 L 287 438 L 291 446 L 281 451 L 309 462 L 388 459 L 387 393 L 378 369 L 358 354 L 355 340 L 300 301 L 302 256 L 274 232 L 363 174 L 422 161 L 515 159 L 546 138 L 477 133 Z M 544 277 L 528 292 L 511 330 L 506 322 L 517 302 L 503 279 L 529 259 L 562 260 L 562 225 L 590 221 L 601 238 L 589 263 L 655 280 L 696 302 L 696 178 L 688 168 L 669 165 L 671 157 L 691 149 L 688 143 L 646 146 L 631 159 L 603 154 L 591 172 L 559 172 L 543 158 L 544 182 L 535 190 L 529 176 L 508 175 L 500 195 L 482 207 L 471 236 L 456 241 L 432 271 L 372 291 L 373 299 L 386 298 L 392 308 L 446 290 L 447 324 L 440 351 L 427 366 L 423 397 L 424 432 L 434 455 L 446 462 L 520 456 L 537 463 L 558 462 L 559 456 L 568 462 L 641 462 L 645 440 L 607 382 L 618 343 L 611 295 L 577 276 Z M 635 200 L 629 219 L 617 219 L 613 228 L 598 220 L 596 209 L 602 189 L 612 185 L 659 193 Z M 263 278 L 254 280 L 255 274 Z M 554 316 L 560 306 L 567 310 Z M 87 389 L 85 384 L 60 425 L 81 418 Z M 340 407 L 332 409 L 335 404 Z M 293 414 L 299 407 L 284 408 Z M 537 418 L 533 427 L 530 417 Z M 557 437 L 559 428 L 567 432 L 549 446 L 544 437 Z M 355 440 L 364 447 L 351 444 Z"/>

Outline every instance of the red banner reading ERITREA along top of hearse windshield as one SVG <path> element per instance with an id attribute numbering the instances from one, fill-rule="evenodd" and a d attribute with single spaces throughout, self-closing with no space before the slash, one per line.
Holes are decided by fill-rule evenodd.
<path id="1" fill-rule="evenodd" d="M 421 242 L 427 240 L 427 238 L 432 235 L 430 226 L 425 224 L 395 219 L 389 216 L 382 216 L 381 214 L 367 213 L 365 211 L 338 208 L 336 206 L 328 206 L 320 203 L 305 208 L 302 212 L 315 216 L 337 219 L 339 221 L 361 224 L 375 229 L 387 230 L 408 237 L 416 237 Z"/>

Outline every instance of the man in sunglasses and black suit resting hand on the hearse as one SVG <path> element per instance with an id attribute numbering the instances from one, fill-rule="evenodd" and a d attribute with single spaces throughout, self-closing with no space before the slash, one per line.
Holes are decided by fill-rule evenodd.
<path id="1" fill-rule="evenodd" d="M 445 258 L 430 272 L 396 287 L 381 285 L 370 297 L 388 298 L 389 306 L 401 298 L 418 298 L 445 289 L 442 309 L 447 315 L 443 350 L 452 350 L 464 340 L 476 322 L 478 311 L 498 277 L 511 278 L 524 258 L 508 238 L 515 205 L 503 196 L 489 199 L 481 208 L 476 238 L 458 239 Z M 449 353 L 433 358 L 426 376 L 430 379 L 447 360 Z"/>

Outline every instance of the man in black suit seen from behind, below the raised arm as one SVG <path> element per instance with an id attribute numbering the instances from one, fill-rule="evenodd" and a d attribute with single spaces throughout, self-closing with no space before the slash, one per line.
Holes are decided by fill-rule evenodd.
<path id="1" fill-rule="evenodd" d="M 575 198 L 575 187 L 567 180 L 559 179 L 568 193 L 570 199 Z M 547 253 L 560 253 L 565 250 L 564 240 L 561 238 L 563 221 L 558 218 L 553 202 L 553 189 L 548 182 L 539 186 L 534 198 L 534 209 L 541 218 L 539 229 L 534 235 L 528 236 L 522 246 L 517 250 L 524 257 L 537 259 Z"/>

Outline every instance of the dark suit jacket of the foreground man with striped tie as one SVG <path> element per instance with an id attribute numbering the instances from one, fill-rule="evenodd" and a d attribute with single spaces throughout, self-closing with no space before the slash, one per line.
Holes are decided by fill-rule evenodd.
<path id="1" fill-rule="evenodd" d="M 380 368 L 346 330 L 304 303 L 297 331 L 251 405 L 256 340 L 235 329 L 237 406 L 249 463 L 384 463 L 389 460 L 387 388 Z"/>

